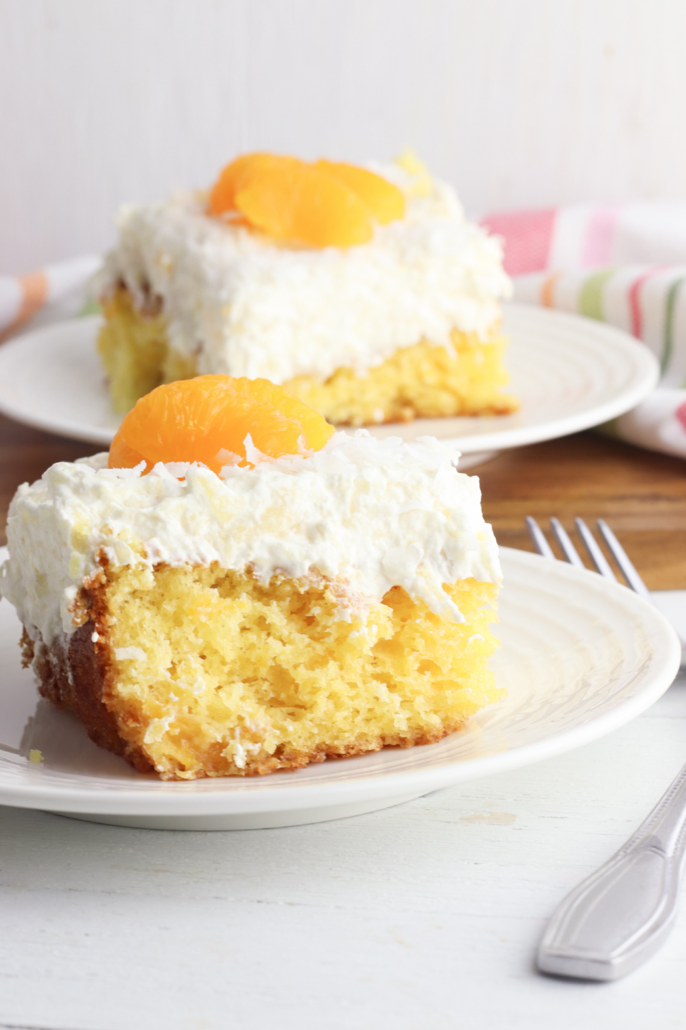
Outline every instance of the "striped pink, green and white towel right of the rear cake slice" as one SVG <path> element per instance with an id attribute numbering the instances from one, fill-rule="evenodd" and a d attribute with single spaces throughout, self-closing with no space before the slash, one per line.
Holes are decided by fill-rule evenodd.
<path id="1" fill-rule="evenodd" d="M 574 205 L 491 214 L 518 301 L 631 333 L 661 368 L 657 388 L 606 428 L 686 457 L 686 205 Z"/>

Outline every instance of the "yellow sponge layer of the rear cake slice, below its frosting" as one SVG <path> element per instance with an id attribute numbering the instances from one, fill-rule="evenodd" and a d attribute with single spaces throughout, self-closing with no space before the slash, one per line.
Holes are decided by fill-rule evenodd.
<path id="1" fill-rule="evenodd" d="M 98 339 L 112 405 L 120 413 L 163 382 L 195 374 L 191 358 L 169 346 L 161 312 L 138 311 L 125 289 L 103 304 Z M 283 385 L 334 425 L 366 425 L 449 415 L 507 414 L 517 402 L 501 392 L 506 340 L 499 330 L 480 340 L 453 332 L 454 352 L 426 341 L 402 347 L 365 375 L 337 369 L 326 382 L 297 376 Z"/>

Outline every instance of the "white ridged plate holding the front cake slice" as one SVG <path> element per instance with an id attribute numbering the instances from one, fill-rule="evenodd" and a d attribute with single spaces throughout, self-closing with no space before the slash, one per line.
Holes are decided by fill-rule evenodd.
<path id="1" fill-rule="evenodd" d="M 439 744 L 251 779 L 164 783 L 101 751 L 75 719 L 38 699 L 20 665 L 20 624 L 3 600 L 0 803 L 153 829 L 337 819 L 577 748 L 666 690 L 681 651 L 651 605 L 595 573 L 508 548 L 502 557 L 502 648 L 494 670 L 504 700 Z M 42 752 L 41 764 L 28 760 L 30 749 Z"/>

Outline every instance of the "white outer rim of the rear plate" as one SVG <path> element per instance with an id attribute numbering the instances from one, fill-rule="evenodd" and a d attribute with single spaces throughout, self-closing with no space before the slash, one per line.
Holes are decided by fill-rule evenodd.
<path id="1" fill-rule="evenodd" d="M 657 358 L 644 343 L 636 340 L 623 330 L 592 318 L 586 318 L 583 315 L 559 311 L 557 309 L 542 308 L 535 304 L 509 302 L 504 305 L 503 309 L 505 318 L 507 318 L 508 313 L 514 312 L 515 318 L 517 316 L 529 317 L 535 320 L 538 319 L 544 323 L 550 321 L 550 319 L 554 319 L 557 324 L 567 323 L 584 335 L 591 333 L 601 340 L 613 340 L 615 345 L 624 348 L 626 353 L 631 355 L 633 374 L 629 377 L 628 383 L 625 384 L 618 396 L 583 411 L 563 415 L 559 418 L 552 418 L 535 425 L 510 426 L 489 433 L 473 434 L 471 436 L 457 435 L 455 437 L 441 437 L 443 442 L 459 448 L 463 454 L 492 450 L 509 450 L 513 447 L 541 443 L 544 440 L 554 440 L 559 437 L 569 436 L 572 433 L 591 428 L 593 425 L 600 425 L 612 418 L 616 418 L 636 407 L 658 382 L 659 364 Z M 46 339 L 49 340 L 51 336 L 63 333 L 69 327 L 77 329 L 80 333 L 85 332 L 89 327 L 95 327 L 100 318 L 100 315 L 87 315 L 65 319 L 64 321 L 53 322 L 49 325 L 23 333 L 21 336 L 8 340 L 3 344 L 0 347 L 0 413 L 7 415 L 9 418 L 14 419 L 14 421 L 31 425 L 46 433 L 52 433 L 72 440 L 81 440 L 85 443 L 109 446 L 116 432 L 114 428 L 108 430 L 95 425 L 87 428 L 81 423 L 44 417 L 40 411 L 27 411 L 25 407 L 14 404 L 11 396 L 7 393 L 8 377 L 6 374 L 3 374 L 5 364 L 11 363 L 17 350 L 43 343 Z M 431 435 L 428 431 L 422 433 L 422 423 L 425 421 L 427 420 L 417 419 L 413 423 L 418 427 L 418 436 Z M 446 419 L 447 421 L 449 419 Z"/>

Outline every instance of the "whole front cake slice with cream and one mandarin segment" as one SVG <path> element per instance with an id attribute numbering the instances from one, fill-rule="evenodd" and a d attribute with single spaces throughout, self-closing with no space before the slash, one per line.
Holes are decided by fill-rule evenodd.
<path id="1" fill-rule="evenodd" d="M 432 438 L 332 433 L 200 377 L 20 487 L 2 593 L 43 696 L 168 780 L 429 744 L 495 700 L 478 480 Z"/>

